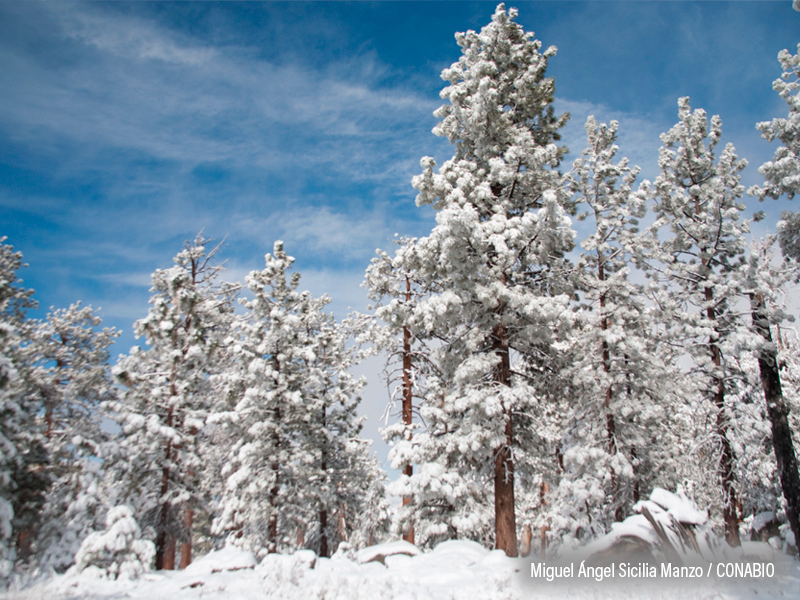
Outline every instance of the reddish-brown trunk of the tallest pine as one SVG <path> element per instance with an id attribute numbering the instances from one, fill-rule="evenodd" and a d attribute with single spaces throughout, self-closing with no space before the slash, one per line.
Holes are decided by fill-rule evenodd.
<path id="1" fill-rule="evenodd" d="M 493 334 L 495 351 L 500 355 L 500 364 L 495 371 L 495 382 L 511 384 L 511 360 L 508 348 L 508 333 L 505 325 L 498 323 Z M 513 428 L 511 408 L 506 407 L 505 444 L 501 446 L 494 459 L 494 531 L 495 548 L 503 550 L 506 556 L 517 556 L 517 525 L 514 514 L 514 460 L 511 455 Z"/>

